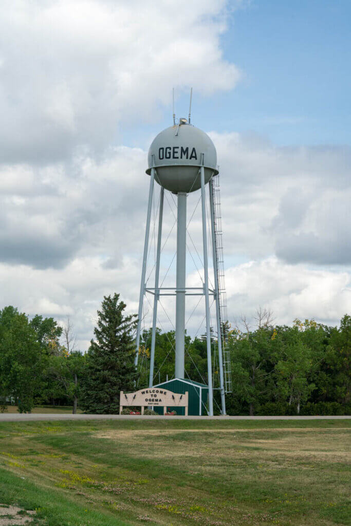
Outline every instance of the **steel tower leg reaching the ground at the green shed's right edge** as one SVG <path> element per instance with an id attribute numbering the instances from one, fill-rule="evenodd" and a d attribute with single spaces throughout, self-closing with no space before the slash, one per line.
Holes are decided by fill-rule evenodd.
<path id="1" fill-rule="evenodd" d="M 200 168 L 201 176 L 201 204 L 202 204 L 202 235 L 204 244 L 204 289 L 206 305 L 206 341 L 207 341 L 207 376 L 208 376 L 208 409 L 209 416 L 213 417 L 213 388 L 212 388 L 212 358 L 211 358 L 211 334 L 209 316 L 209 294 L 208 294 L 208 261 L 207 261 L 207 228 L 206 228 L 206 194 L 205 194 L 205 170 Z"/>

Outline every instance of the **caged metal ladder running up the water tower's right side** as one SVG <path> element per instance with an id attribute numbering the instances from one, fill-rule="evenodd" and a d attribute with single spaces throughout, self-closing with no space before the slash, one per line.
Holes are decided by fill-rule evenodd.
<path id="1" fill-rule="evenodd" d="M 215 216 L 216 257 L 219 284 L 219 317 L 222 336 L 224 390 L 232 392 L 232 368 L 230 366 L 230 352 L 228 347 L 228 315 L 227 295 L 225 290 L 224 260 L 223 260 L 223 231 L 222 214 L 220 213 L 219 174 L 213 177 L 213 200 Z"/>

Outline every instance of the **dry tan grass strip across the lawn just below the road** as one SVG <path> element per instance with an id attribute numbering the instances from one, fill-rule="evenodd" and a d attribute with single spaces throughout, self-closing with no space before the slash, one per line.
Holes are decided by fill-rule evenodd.
<path id="1" fill-rule="evenodd" d="M 309 433 L 307 433 L 309 431 Z M 319 461 L 351 462 L 349 443 L 345 441 L 345 429 L 327 428 L 316 430 L 313 428 L 296 429 L 167 429 L 145 430 L 143 437 L 153 437 L 154 448 L 162 451 L 164 457 L 199 457 L 213 449 L 216 456 L 226 458 L 276 456 L 284 454 L 286 458 L 318 458 Z M 191 438 L 189 433 L 192 434 Z M 148 458 L 154 454 L 153 449 L 140 443 L 139 433 L 135 430 L 105 430 L 93 433 L 95 437 L 113 441 L 128 441 L 135 444 L 138 450 Z M 316 448 L 316 440 L 318 448 Z M 146 441 L 147 442 L 147 441 Z M 186 448 L 184 448 L 186 442 Z M 168 446 L 168 447 L 167 447 Z"/>

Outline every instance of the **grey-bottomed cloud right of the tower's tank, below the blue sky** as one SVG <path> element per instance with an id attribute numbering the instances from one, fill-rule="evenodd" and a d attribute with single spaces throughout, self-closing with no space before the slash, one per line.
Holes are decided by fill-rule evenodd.
<path id="1" fill-rule="evenodd" d="M 220 162 L 227 255 L 351 263 L 351 148 L 285 148 L 255 136 L 211 136 Z"/>

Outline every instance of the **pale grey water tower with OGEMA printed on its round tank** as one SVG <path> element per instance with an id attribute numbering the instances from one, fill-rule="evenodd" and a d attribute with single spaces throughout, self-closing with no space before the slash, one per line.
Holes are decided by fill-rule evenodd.
<path id="1" fill-rule="evenodd" d="M 185 361 L 185 301 L 187 295 L 205 296 L 206 310 L 206 346 L 207 346 L 207 382 L 208 382 L 208 414 L 213 415 L 213 381 L 212 381 L 212 349 L 210 333 L 210 306 L 209 297 L 214 296 L 216 305 L 216 330 L 217 350 L 219 366 L 219 389 L 221 395 L 222 409 L 225 414 L 225 392 L 231 391 L 231 379 L 229 368 L 229 352 L 225 347 L 225 334 L 223 322 L 226 321 L 225 291 L 220 286 L 221 278 L 224 277 L 222 244 L 219 242 L 221 232 L 218 230 L 220 221 L 219 199 L 216 200 L 216 191 L 219 188 L 214 183 L 218 176 L 217 154 L 212 140 L 204 131 L 190 124 L 189 118 L 180 118 L 176 123 L 173 115 L 173 126 L 161 131 L 153 140 L 148 152 L 148 168 L 146 173 L 150 176 L 148 208 L 145 231 L 145 244 L 143 256 L 143 268 L 141 278 L 141 289 L 138 309 L 138 326 L 136 334 L 135 364 L 137 365 L 139 354 L 139 343 L 141 335 L 142 309 L 144 295 L 148 292 L 154 295 L 152 341 L 151 341 L 151 365 L 149 372 L 149 387 L 153 386 L 155 339 L 157 304 L 162 295 L 174 295 L 176 297 L 176 319 L 175 319 L 175 378 L 184 379 Z M 161 186 L 158 214 L 158 235 L 155 262 L 155 286 L 151 289 L 146 287 L 146 264 L 148 255 L 149 231 L 152 216 L 152 201 L 154 193 L 154 182 Z M 206 187 L 209 188 L 210 222 L 213 252 L 214 289 L 208 284 L 208 254 L 207 254 L 207 226 L 206 226 Z M 176 284 L 171 290 L 159 287 L 159 268 L 161 255 L 161 238 L 163 222 L 164 193 L 168 190 L 177 196 L 177 250 L 176 250 Z M 202 205 L 202 233 L 203 233 L 203 264 L 204 279 L 202 288 L 186 287 L 186 213 L 187 195 L 200 190 Z M 221 271 L 222 268 L 222 271 Z"/>

